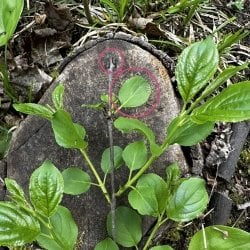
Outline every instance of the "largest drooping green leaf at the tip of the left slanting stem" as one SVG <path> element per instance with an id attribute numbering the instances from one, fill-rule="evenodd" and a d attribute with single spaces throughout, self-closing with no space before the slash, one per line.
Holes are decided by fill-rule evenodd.
<path id="1" fill-rule="evenodd" d="M 52 128 L 59 146 L 63 148 L 86 148 L 85 129 L 81 125 L 73 123 L 68 112 L 57 110 L 52 119 Z"/>

